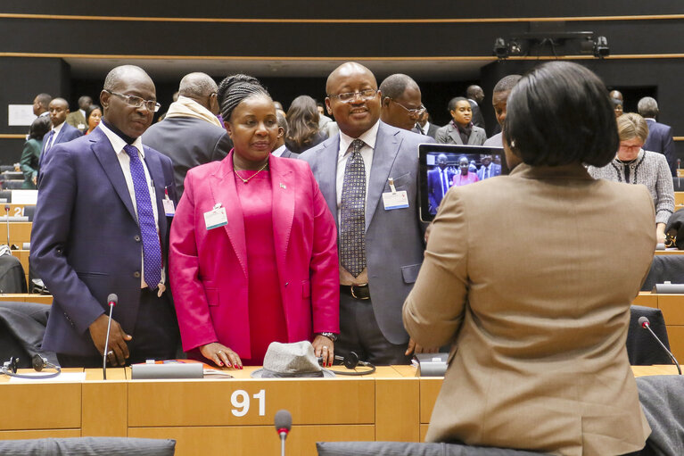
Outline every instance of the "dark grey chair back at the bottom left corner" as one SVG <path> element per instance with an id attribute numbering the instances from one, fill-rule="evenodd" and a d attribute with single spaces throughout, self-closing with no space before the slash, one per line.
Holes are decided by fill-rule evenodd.
<path id="1" fill-rule="evenodd" d="M 173 456 L 175 440 L 128 437 L 41 438 L 0 441 L 3 456 Z"/>

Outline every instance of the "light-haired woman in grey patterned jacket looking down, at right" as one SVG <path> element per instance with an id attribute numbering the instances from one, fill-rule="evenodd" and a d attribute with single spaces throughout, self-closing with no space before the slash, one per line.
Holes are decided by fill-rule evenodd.
<path id="1" fill-rule="evenodd" d="M 593 178 L 641 184 L 648 188 L 655 204 L 655 238 L 665 242 L 665 225 L 674 212 L 672 174 L 663 153 L 641 147 L 648 137 L 648 124 L 639 114 L 627 112 L 617 118 L 620 148 L 614 159 L 602 168 L 589 166 Z"/>

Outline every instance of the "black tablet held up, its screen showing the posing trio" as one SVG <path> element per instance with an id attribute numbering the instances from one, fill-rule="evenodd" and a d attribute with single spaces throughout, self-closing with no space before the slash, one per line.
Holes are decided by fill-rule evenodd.
<path id="1" fill-rule="evenodd" d="M 430 222 L 449 188 L 508 174 L 503 147 L 418 145 L 420 220 Z"/>

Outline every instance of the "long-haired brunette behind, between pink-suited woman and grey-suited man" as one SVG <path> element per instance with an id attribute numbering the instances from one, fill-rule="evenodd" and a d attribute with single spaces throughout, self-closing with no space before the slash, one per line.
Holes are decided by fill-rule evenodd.
<path id="1" fill-rule="evenodd" d="M 287 110 L 287 137 L 285 145 L 292 153 L 302 153 L 327 139 L 326 133 L 318 129 L 320 114 L 316 100 L 309 95 L 300 95 Z"/>

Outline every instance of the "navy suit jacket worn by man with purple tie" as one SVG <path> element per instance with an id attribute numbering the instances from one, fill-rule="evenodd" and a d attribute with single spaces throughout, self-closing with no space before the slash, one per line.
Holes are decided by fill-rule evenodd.
<path id="1" fill-rule="evenodd" d="M 105 312 L 108 294 L 119 296 L 113 318 L 128 334 L 134 333 L 142 269 L 140 228 L 119 159 L 101 129 L 55 145 L 49 153 L 30 253 L 31 264 L 54 295 L 43 348 L 96 356 L 88 327 Z M 161 247 L 168 265 L 169 220 L 162 198 L 168 187 L 169 197 L 176 201 L 173 165 L 146 146 L 144 162 L 157 196 Z"/>

